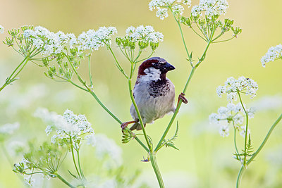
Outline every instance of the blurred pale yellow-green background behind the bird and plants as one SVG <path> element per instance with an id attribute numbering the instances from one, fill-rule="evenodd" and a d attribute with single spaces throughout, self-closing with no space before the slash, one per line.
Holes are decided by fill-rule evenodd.
<path id="1" fill-rule="evenodd" d="M 168 73 L 168 77 L 176 86 L 176 94 L 179 94 L 190 73 L 190 65 L 185 61 L 177 25 L 172 15 L 165 20 L 157 18 L 155 11 L 149 11 L 148 3 L 149 1 L 128 0 L 1 0 L 0 24 L 5 27 L 5 32 L 0 35 L 0 40 L 8 35 L 6 30 L 22 25 L 41 25 L 52 32 L 61 30 L 75 35 L 89 29 L 97 30 L 100 26 L 114 26 L 118 29 L 116 36 L 125 35 L 125 29 L 130 25 L 152 25 L 164 34 L 164 42 L 154 56 L 161 56 L 175 65 L 176 70 Z M 192 1 L 192 4 L 197 3 L 198 1 Z M 218 127 L 209 125 L 208 122 L 209 114 L 227 104 L 225 98 L 220 99 L 216 95 L 216 87 L 223 84 L 227 77 L 238 78 L 244 75 L 259 84 L 255 99 L 250 100 L 248 96 L 243 98 L 247 106 L 257 106 L 255 118 L 250 120 L 255 149 L 281 113 L 282 63 L 271 62 L 263 68 L 260 58 L 270 46 L 281 43 L 282 1 L 228 3 L 225 17 L 233 19 L 234 25 L 243 28 L 243 32 L 231 42 L 213 44 L 207 58 L 192 78 L 186 94 L 188 105 L 180 108 L 177 118 L 180 134 L 176 146 L 180 151 L 162 149 L 157 156 L 166 187 L 235 187 L 240 164 L 232 155 L 232 131 L 229 137 L 222 138 Z M 204 42 L 188 28 L 183 30 L 190 51 L 200 55 L 204 50 Z M 20 61 L 22 57 L 13 49 L 0 44 L 1 85 Z M 127 65 L 126 62 L 124 65 Z M 80 73 L 86 77 L 85 70 L 86 66 L 82 65 Z M 85 114 L 92 123 L 94 132 L 106 134 L 121 146 L 125 176 L 140 169 L 142 173 L 137 181 L 157 187 L 151 164 L 140 162 L 143 156 L 147 157 L 147 153 L 134 141 L 121 144 L 120 125 L 102 110 L 92 96 L 70 84 L 49 80 L 43 72 L 43 69 L 29 63 L 20 74 L 20 80 L 6 87 L 0 94 L 0 125 L 20 123 L 20 130 L 6 142 L 8 151 L 11 140 L 24 142 L 34 137 L 39 141 L 49 139 L 44 132 L 46 125 L 32 115 L 38 107 L 60 114 L 68 108 L 74 113 Z M 113 58 L 106 48 L 94 51 L 92 73 L 97 96 L 118 118 L 123 121 L 131 120 L 127 82 L 114 66 Z M 273 105 L 266 108 L 266 104 L 269 104 L 266 98 L 269 97 L 273 99 Z M 166 115 L 154 125 L 147 125 L 147 133 L 154 142 L 158 142 L 170 118 L 171 115 Z M 175 125 L 171 134 L 174 129 Z M 242 187 L 282 187 L 281 133 L 282 125 L 278 125 L 264 150 L 247 168 Z M 82 153 L 82 165 L 88 174 L 95 172 L 92 155 L 94 153 L 88 150 Z M 16 157 L 14 162 L 18 160 Z M 0 161 L 0 187 L 23 187 L 3 153 L 0 153 Z M 61 187 L 63 184 L 59 180 L 51 180 L 50 186 Z"/>

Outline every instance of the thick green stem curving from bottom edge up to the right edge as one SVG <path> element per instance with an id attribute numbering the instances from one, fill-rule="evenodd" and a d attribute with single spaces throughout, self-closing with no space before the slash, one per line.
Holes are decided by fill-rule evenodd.
<path id="1" fill-rule="evenodd" d="M 250 163 L 255 159 L 257 154 L 259 154 L 259 152 L 262 151 L 262 148 L 264 147 L 264 145 L 266 144 L 267 140 L 269 139 L 269 137 L 271 135 L 271 132 L 274 130 L 276 125 L 281 121 L 281 119 L 282 119 L 282 113 L 277 118 L 277 120 L 274 122 L 274 124 L 270 127 L 269 132 L 267 132 L 266 137 L 264 138 L 264 141 L 262 142 L 262 144 L 260 144 L 260 146 L 257 149 L 257 151 L 255 151 L 255 153 L 252 155 L 252 157 L 247 161 L 246 165 L 242 165 L 241 166 L 241 168 L 239 170 L 239 173 L 238 173 L 237 181 L 236 181 L 236 188 L 240 187 L 240 181 L 242 179 L 244 170 L 247 168 L 247 165 L 250 165 Z"/>

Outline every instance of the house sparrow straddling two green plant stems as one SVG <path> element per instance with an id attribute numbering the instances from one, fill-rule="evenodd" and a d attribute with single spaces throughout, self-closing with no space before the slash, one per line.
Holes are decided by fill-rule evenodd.
<path id="1" fill-rule="evenodd" d="M 159 57 L 149 58 L 139 66 L 133 96 L 144 126 L 164 117 L 166 113 L 176 111 L 174 85 L 166 77 L 166 73 L 173 69 L 175 69 L 173 65 Z M 183 93 L 178 96 L 178 102 L 180 99 L 187 104 L 188 101 Z M 121 128 L 125 129 L 129 124 L 134 123 L 130 130 L 142 130 L 133 104 L 130 106 L 130 114 L 134 120 L 123 123 Z"/>

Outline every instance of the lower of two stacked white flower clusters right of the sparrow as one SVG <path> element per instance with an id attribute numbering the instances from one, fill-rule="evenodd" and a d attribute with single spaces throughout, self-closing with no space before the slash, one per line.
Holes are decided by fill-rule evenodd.
<path id="1" fill-rule="evenodd" d="M 255 111 L 253 108 L 246 109 L 246 111 L 250 118 L 254 117 Z M 221 137 L 228 137 L 228 125 L 234 125 L 237 130 L 240 130 L 240 134 L 244 137 L 245 126 L 241 126 L 244 121 L 244 116 L 242 113 L 243 108 L 240 103 L 236 105 L 231 103 L 226 107 L 220 107 L 217 113 L 212 113 L 209 115 L 209 122 L 212 124 L 221 125 L 219 129 L 219 134 L 221 134 Z M 250 132 L 250 130 L 248 130 L 248 132 Z"/>

